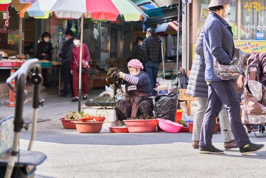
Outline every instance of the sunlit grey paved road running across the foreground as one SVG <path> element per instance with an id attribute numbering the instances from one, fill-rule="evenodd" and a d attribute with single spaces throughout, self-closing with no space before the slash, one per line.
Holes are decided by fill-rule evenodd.
<path id="1" fill-rule="evenodd" d="M 92 91 L 90 97 L 100 91 Z M 241 156 L 237 149 L 223 155 L 199 154 L 192 149 L 190 133 L 79 134 L 62 128 L 59 118 L 77 104 L 69 99 L 45 96 L 46 105 L 38 118 L 33 149 L 47 160 L 37 167 L 36 177 L 263 177 L 266 149 Z M 0 106 L 0 118 L 14 112 Z M 25 118 L 31 117 L 31 104 L 25 106 Z M 265 138 L 249 134 L 252 142 L 266 144 Z M 21 149 L 26 149 L 30 132 L 21 134 Z M 213 144 L 223 148 L 220 134 Z"/>

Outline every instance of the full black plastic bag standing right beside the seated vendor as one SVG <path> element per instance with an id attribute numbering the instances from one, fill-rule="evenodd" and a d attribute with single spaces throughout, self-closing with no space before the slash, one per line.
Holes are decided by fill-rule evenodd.
<path id="1" fill-rule="evenodd" d="M 177 94 L 160 95 L 155 98 L 155 115 L 157 118 L 175 122 L 177 110 Z"/>

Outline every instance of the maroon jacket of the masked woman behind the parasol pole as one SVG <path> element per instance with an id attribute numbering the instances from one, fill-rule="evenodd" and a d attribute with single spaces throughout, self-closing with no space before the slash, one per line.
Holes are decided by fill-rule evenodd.
<path id="1" fill-rule="evenodd" d="M 88 46 L 86 44 L 82 45 L 82 63 L 87 61 L 90 61 L 90 53 Z M 79 66 L 79 53 L 80 53 L 80 46 L 79 47 L 73 47 L 71 50 L 71 65 L 70 68 L 71 70 L 77 69 Z M 76 60 L 75 60 L 76 59 Z"/>

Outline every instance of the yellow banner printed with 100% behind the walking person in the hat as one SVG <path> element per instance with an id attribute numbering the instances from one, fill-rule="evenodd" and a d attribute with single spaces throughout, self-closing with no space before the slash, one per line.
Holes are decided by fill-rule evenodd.
<path id="1" fill-rule="evenodd" d="M 234 41 L 235 48 L 239 48 L 243 52 L 263 52 L 266 50 L 266 41 L 254 40 L 254 41 L 244 41 L 237 40 Z"/>

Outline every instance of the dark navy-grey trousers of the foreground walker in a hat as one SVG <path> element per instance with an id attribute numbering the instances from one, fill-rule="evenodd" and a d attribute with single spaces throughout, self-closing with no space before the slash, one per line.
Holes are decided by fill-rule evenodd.
<path id="1" fill-rule="evenodd" d="M 238 147 L 250 143 L 240 117 L 240 102 L 232 80 L 212 81 L 208 86 L 208 102 L 201 128 L 200 146 L 211 146 L 215 118 L 225 106 Z"/>

